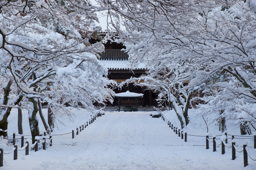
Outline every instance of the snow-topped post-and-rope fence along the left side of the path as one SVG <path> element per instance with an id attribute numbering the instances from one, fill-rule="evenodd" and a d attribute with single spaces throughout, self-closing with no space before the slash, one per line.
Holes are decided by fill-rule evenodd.
<path id="1" fill-rule="evenodd" d="M 105 115 L 105 107 L 103 108 L 103 113 L 101 113 L 102 109 L 100 109 L 100 111 L 98 111 L 90 120 L 89 120 L 89 124 L 92 124 L 97 117 Z M 78 135 L 79 130 L 80 132 L 82 130 L 84 130 L 84 128 L 86 128 L 88 126 L 88 121 L 86 123 L 84 123 L 83 125 L 80 125 L 80 127 L 76 128 L 76 135 Z M 44 134 L 39 134 L 39 136 L 44 136 L 42 139 L 40 139 L 39 136 L 35 136 L 35 142 L 34 144 L 32 144 L 31 146 L 29 146 L 29 141 L 31 141 L 31 139 L 27 139 L 24 138 L 24 136 L 31 136 L 31 135 L 20 135 L 17 134 L 17 136 L 21 136 L 21 138 L 15 138 L 16 134 L 15 132 L 13 133 L 12 136 L 7 136 L 7 138 L 12 137 L 12 139 L 6 139 L 6 140 L 12 140 L 12 143 L 14 145 L 14 148 L 12 148 L 12 150 L 10 152 L 4 152 L 4 148 L 7 146 L 6 144 L 2 143 L 0 144 L 0 167 L 3 166 L 3 154 L 10 154 L 12 152 L 14 152 L 14 160 L 18 159 L 18 150 L 24 150 L 26 149 L 25 155 L 29 155 L 29 148 L 34 149 L 35 152 L 38 151 L 38 145 L 41 144 L 43 147 L 43 150 L 46 150 L 46 144 L 49 144 L 49 146 L 52 146 L 52 136 L 59 136 L 59 135 L 67 135 L 67 134 L 71 134 L 72 133 L 72 139 L 74 138 L 74 130 L 72 130 L 72 132 L 68 132 L 65 134 L 46 134 L 46 131 L 44 132 Z M 49 135 L 49 138 L 46 138 L 46 135 Z M 0 140 L 4 140 L 5 138 L 1 138 Z M 21 139 L 21 148 L 18 148 L 18 144 L 15 144 L 16 140 L 20 140 Z M 24 146 L 24 139 L 26 139 L 26 144 Z M 46 142 L 46 139 L 49 139 L 49 142 Z M 40 141 L 42 141 L 40 143 Z"/>

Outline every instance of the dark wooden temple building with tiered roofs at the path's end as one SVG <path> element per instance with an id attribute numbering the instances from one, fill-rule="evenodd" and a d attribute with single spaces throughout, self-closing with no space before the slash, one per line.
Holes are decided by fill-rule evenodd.
<path id="1" fill-rule="evenodd" d="M 106 33 L 100 34 L 102 37 Z M 117 83 L 123 82 L 131 77 L 140 77 L 142 74 L 145 74 L 146 68 L 143 63 L 140 63 L 136 68 L 132 68 L 128 61 L 128 54 L 122 51 L 125 49 L 120 43 L 108 41 L 105 46 L 105 53 L 100 54 L 101 62 L 108 68 L 108 78 L 115 80 Z M 123 92 L 134 92 L 142 93 L 143 97 L 138 98 L 138 105 L 143 107 L 157 106 L 157 94 L 142 88 L 140 86 L 134 86 L 133 83 L 130 83 L 128 86 L 123 86 L 122 89 L 113 89 L 115 93 Z M 120 101 L 121 106 L 136 106 L 137 101 L 133 98 L 125 98 Z M 117 106 L 118 98 L 114 98 L 113 103 L 108 103 L 108 106 Z"/>

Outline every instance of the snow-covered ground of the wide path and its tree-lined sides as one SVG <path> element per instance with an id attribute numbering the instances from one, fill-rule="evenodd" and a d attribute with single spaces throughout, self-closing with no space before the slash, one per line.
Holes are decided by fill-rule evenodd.
<path id="1" fill-rule="evenodd" d="M 92 115 L 83 110 L 74 109 L 73 112 L 76 113 L 74 121 L 63 120 L 65 126 L 59 125 L 59 129 L 56 128 L 53 134 L 71 132 L 78 125 L 86 123 Z M 46 109 L 44 113 L 47 113 Z M 30 151 L 29 155 L 25 155 L 25 150 L 18 151 L 17 160 L 13 160 L 13 153 L 4 154 L 4 166 L 0 169 L 256 169 L 256 161 L 250 158 L 249 165 L 244 167 L 242 153 L 237 152 L 233 161 L 231 149 L 226 148 L 226 153 L 222 155 L 221 147 L 217 147 L 217 152 L 213 152 L 210 143 L 210 149 L 206 150 L 205 137 L 188 136 L 188 142 L 184 142 L 184 139 L 169 128 L 166 121 L 149 115 L 150 112 L 106 112 L 79 132 L 79 135 L 75 135 L 74 139 L 71 134 L 53 136 L 53 146 L 47 146 L 46 150 L 37 152 Z M 164 112 L 164 115 L 179 127 L 173 111 Z M 193 112 L 190 113 L 191 124 L 187 133 L 205 135 L 203 120 L 192 115 Z M 8 132 L 11 135 L 12 132 L 18 131 L 15 109 L 8 120 Z M 43 133 L 41 122 L 39 125 Z M 228 134 L 230 130 L 230 133 L 239 135 L 239 128 L 231 128 L 231 124 L 228 124 L 227 130 Z M 23 114 L 23 131 L 25 135 L 30 134 L 27 114 Z M 209 134 L 220 134 L 217 125 L 211 126 Z M 253 141 L 247 140 L 251 155 L 256 158 Z M 240 145 L 244 141 L 245 139 L 236 142 Z M 220 140 L 217 142 L 220 143 Z M 230 145 L 230 139 L 228 142 Z M 4 149 L 5 152 L 11 150 L 11 145 Z"/>

